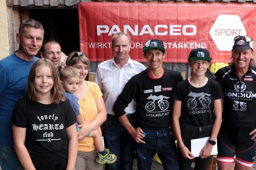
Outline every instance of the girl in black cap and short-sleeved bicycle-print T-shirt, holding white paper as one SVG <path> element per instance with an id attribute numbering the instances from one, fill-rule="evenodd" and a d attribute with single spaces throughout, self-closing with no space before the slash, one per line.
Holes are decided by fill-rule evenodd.
<path id="1" fill-rule="evenodd" d="M 178 159 L 180 170 L 190 170 L 194 155 L 190 152 L 190 140 L 210 137 L 203 147 L 200 156 L 196 157 L 195 170 L 206 170 L 210 154 L 218 135 L 223 98 L 218 82 L 208 80 L 205 72 L 212 59 L 206 49 L 193 49 L 188 58 L 191 77 L 177 84 L 172 98 L 172 126 L 178 143 Z M 179 117 L 182 113 L 180 127 Z"/>

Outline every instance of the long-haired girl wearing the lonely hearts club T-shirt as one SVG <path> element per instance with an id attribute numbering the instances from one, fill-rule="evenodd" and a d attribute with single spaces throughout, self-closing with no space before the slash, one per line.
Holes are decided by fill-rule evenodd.
<path id="1" fill-rule="evenodd" d="M 53 63 L 37 60 L 28 75 L 26 95 L 16 103 L 12 117 L 14 148 L 24 169 L 74 170 L 75 121 Z"/>

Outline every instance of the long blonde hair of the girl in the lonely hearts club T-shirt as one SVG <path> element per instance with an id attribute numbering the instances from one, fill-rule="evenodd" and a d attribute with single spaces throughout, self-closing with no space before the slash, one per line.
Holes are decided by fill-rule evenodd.
<path id="1" fill-rule="evenodd" d="M 51 89 L 52 103 L 59 104 L 60 102 L 64 102 L 66 98 L 64 96 L 64 89 L 62 88 L 62 85 L 60 83 L 58 72 L 52 61 L 45 58 L 37 60 L 34 64 L 32 64 L 30 68 L 30 72 L 28 75 L 28 85 L 26 89 L 26 95 L 28 96 L 28 100 L 31 102 L 36 102 L 40 100 L 40 98 L 36 94 L 36 88 L 34 84 L 36 78 L 36 68 L 39 66 L 48 66 L 51 70 L 53 80 L 53 86 Z"/>

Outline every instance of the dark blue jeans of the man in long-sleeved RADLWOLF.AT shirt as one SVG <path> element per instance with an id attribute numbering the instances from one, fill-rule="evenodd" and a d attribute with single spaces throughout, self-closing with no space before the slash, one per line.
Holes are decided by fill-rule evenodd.
<path id="1" fill-rule="evenodd" d="M 138 170 L 150 170 L 152 158 L 156 153 L 164 170 L 178 170 L 175 139 L 170 135 L 170 129 L 160 131 L 142 130 L 146 133 L 142 139 L 146 143 L 137 143 Z"/>

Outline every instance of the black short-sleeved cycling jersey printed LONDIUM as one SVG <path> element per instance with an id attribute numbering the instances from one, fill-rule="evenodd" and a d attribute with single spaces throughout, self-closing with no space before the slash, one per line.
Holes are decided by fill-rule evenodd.
<path id="1" fill-rule="evenodd" d="M 241 80 L 234 66 L 220 68 L 212 79 L 218 81 L 224 94 L 223 123 L 256 127 L 256 71 L 249 70 Z"/>

